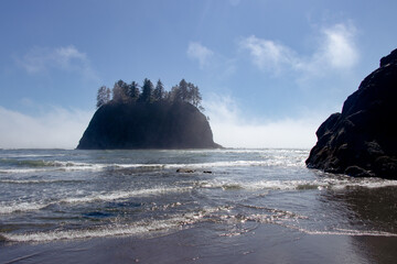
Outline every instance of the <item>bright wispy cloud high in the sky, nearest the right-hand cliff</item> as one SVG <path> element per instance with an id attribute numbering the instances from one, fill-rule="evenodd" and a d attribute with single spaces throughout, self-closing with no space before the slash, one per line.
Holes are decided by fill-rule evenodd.
<path id="1" fill-rule="evenodd" d="M 283 70 L 305 75 L 319 75 L 328 69 L 346 70 L 357 65 L 360 59 L 355 44 L 356 30 L 352 24 L 335 24 L 320 32 L 320 41 L 311 56 L 302 56 L 292 48 L 272 40 L 255 35 L 239 42 L 242 50 L 248 51 L 251 62 L 258 68 L 273 74 Z"/>

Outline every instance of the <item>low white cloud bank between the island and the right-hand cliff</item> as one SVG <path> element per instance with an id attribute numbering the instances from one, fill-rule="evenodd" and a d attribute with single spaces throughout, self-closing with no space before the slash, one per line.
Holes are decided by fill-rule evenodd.
<path id="1" fill-rule="evenodd" d="M 211 118 L 214 141 L 226 147 L 310 148 L 316 142 L 316 129 L 328 118 L 304 114 L 299 119 L 249 120 L 232 98 L 213 98 L 204 107 Z"/>

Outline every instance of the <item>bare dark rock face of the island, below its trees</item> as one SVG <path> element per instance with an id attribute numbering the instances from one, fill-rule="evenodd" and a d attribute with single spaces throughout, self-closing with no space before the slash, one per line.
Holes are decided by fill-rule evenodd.
<path id="1" fill-rule="evenodd" d="M 107 103 L 94 114 L 79 150 L 215 148 L 210 123 L 186 102 Z"/>

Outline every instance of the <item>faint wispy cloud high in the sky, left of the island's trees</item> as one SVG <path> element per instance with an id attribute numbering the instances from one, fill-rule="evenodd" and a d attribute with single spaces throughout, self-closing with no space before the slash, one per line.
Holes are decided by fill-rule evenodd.
<path id="1" fill-rule="evenodd" d="M 97 79 L 87 55 L 73 45 L 56 48 L 34 47 L 15 61 L 32 75 L 61 69 L 78 73 L 84 78 Z"/>

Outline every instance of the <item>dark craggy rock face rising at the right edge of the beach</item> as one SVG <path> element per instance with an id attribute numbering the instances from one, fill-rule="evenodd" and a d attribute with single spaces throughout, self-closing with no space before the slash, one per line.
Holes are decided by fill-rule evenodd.
<path id="1" fill-rule="evenodd" d="M 308 167 L 397 179 L 397 50 L 316 131 Z"/>

